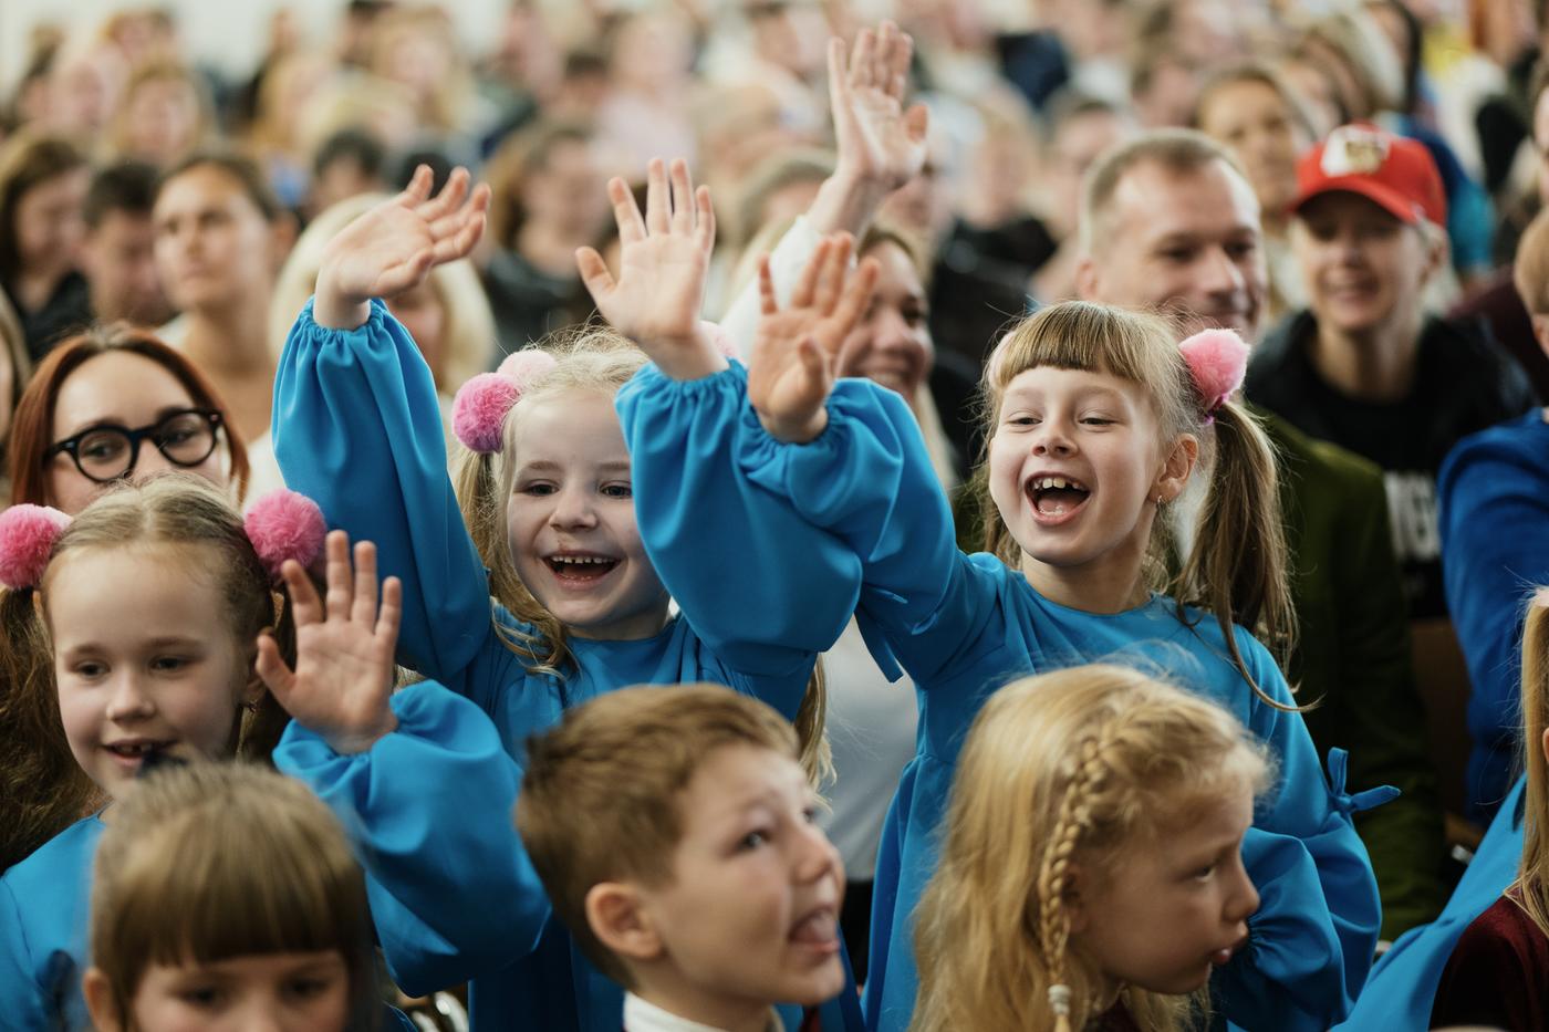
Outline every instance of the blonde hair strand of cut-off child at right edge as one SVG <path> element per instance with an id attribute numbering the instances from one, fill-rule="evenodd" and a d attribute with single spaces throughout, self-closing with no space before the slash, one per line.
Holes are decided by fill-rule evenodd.
<path id="1" fill-rule="evenodd" d="M 1540 931 L 1549 934 L 1549 589 L 1540 587 L 1523 624 L 1523 767 L 1527 796 L 1523 810 L 1523 866 L 1516 880 L 1520 902 Z"/>

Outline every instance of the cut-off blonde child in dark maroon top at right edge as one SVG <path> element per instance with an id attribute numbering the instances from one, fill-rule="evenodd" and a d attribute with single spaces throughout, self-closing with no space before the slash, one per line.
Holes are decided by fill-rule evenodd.
<path id="1" fill-rule="evenodd" d="M 1462 933 L 1442 970 L 1431 1026 L 1549 1024 L 1549 589 L 1523 626 L 1523 865 L 1516 880 Z"/>

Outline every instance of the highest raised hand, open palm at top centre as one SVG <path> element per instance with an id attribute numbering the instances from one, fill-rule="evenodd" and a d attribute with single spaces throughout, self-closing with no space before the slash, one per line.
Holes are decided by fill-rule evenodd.
<path id="1" fill-rule="evenodd" d="M 849 67 L 844 42 L 829 40 L 829 105 L 838 138 L 838 172 L 891 192 L 925 164 L 929 115 L 923 104 L 903 107 L 914 40 L 892 22 L 855 37 Z"/>

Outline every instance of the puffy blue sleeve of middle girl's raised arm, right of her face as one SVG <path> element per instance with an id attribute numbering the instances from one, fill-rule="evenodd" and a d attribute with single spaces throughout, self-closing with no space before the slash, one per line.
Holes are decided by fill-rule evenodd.
<path id="1" fill-rule="evenodd" d="M 805 683 L 855 612 L 860 562 L 742 474 L 740 454 L 774 445 L 744 367 L 683 381 L 646 366 L 617 404 L 640 536 L 694 634 L 739 673 Z"/>

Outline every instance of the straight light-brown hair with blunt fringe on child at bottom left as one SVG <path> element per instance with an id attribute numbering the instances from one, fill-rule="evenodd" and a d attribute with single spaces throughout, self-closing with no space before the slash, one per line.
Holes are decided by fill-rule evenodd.
<path id="1" fill-rule="evenodd" d="M 349 1027 L 376 1027 L 366 879 L 299 781 L 235 762 L 158 770 L 115 806 L 93 868 L 91 964 L 124 1024 L 152 965 L 336 950 Z"/>

